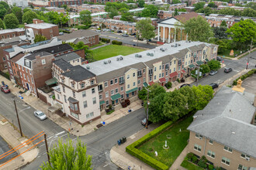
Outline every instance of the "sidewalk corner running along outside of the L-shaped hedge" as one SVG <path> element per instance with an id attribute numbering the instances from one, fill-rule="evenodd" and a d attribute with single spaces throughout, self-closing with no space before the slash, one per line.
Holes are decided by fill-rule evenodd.
<path id="1" fill-rule="evenodd" d="M 123 169 L 128 169 L 128 166 L 131 166 L 133 170 L 153 170 L 154 168 L 151 168 L 149 165 L 128 154 L 126 152 L 126 146 L 139 140 L 141 137 L 148 134 L 150 131 L 153 131 L 155 128 L 157 128 L 157 124 L 150 124 L 147 129 L 144 128 L 127 138 L 126 143 L 113 146 L 109 154 L 111 161 Z"/>

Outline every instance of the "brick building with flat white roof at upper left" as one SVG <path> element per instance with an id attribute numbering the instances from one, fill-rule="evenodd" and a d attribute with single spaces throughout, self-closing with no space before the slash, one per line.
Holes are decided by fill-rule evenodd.
<path id="1" fill-rule="evenodd" d="M 40 34 L 51 39 L 54 36 L 59 36 L 59 27 L 54 24 L 45 23 L 40 19 L 33 19 L 33 24 L 25 24 L 25 29 L 33 29 L 33 34 Z"/>

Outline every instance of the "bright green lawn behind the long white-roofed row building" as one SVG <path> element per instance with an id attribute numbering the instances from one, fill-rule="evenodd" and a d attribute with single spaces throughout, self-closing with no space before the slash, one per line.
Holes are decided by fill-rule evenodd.
<path id="1" fill-rule="evenodd" d="M 144 51 L 144 49 L 137 49 L 130 46 L 118 46 L 118 45 L 109 45 L 103 46 L 99 49 L 93 49 L 93 58 L 96 60 L 107 59 L 112 56 L 123 55 L 127 56 L 132 53 L 138 53 Z"/>

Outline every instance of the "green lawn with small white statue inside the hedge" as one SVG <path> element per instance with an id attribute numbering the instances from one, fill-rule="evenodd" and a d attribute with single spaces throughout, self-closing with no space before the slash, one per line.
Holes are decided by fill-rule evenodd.
<path id="1" fill-rule="evenodd" d="M 175 123 L 173 127 L 159 134 L 156 138 L 147 141 L 144 145 L 140 146 L 140 151 L 143 151 L 152 158 L 157 159 L 159 162 L 164 163 L 171 167 L 173 162 L 175 162 L 178 155 L 181 154 L 185 146 L 188 144 L 189 131 L 186 130 L 193 121 L 192 115 L 185 118 L 183 121 Z M 182 129 L 180 132 L 179 130 Z M 166 135 L 171 135 L 168 139 Z M 167 141 L 168 149 L 164 149 L 164 142 Z M 154 152 L 157 151 L 157 157 Z"/>

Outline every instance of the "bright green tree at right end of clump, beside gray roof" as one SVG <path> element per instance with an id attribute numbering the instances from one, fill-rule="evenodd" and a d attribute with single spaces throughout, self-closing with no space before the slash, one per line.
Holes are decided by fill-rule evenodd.
<path id="1" fill-rule="evenodd" d="M 195 109 L 202 110 L 209 103 L 209 100 L 213 98 L 213 88 L 209 85 L 198 87 L 193 86 L 192 90 L 195 94 Z"/>

